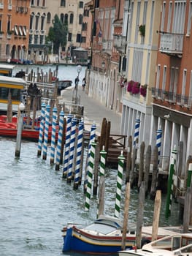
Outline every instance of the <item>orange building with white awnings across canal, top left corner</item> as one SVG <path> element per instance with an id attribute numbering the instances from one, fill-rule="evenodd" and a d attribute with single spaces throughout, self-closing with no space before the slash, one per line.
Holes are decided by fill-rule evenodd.
<path id="1" fill-rule="evenodd" d="M 27 58 L 30 0 L 0 2 L 0 59 Z"/>

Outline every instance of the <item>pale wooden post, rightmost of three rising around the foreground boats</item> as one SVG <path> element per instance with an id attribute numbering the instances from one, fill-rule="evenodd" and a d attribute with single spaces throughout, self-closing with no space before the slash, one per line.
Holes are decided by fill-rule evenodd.
<path id="1" fill-rule="evenodd" d="M 158 238 L 158 223 L 161 212 L 161 190 L 157 190 L 155 196 L 155 206 L 153 212 L 152 241 Z"/>

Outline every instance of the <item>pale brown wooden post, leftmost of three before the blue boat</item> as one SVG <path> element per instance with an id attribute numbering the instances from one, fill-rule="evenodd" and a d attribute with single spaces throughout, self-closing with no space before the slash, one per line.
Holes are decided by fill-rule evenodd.
<path id="1" fill-rule="evenodd" d="M 126 249 L 126 233 L 127 233 L 127 223 L 128 223 L 128 207 L 130 202 L 130 183 L 126 184 L 126 199 L 123 217 L 123 233 L 122 233 L 122 244 L 121 249 Z"/>

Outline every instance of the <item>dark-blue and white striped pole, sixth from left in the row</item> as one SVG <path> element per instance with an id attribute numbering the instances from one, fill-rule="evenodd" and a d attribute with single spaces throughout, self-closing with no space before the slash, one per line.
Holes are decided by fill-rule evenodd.
<path id="1" fill-rule="evenodd" d="M 71 129 L 71 140 L 70 140 L 70 150 L 69 150 L 69 166 L 66 177 L 66 182 L 71 183 L 72 181 L 72 167 L 73 167 L 73 157 L 74 157 L 74 143 L 75 143 L 75 133 L 76 133 L 77 118 L 72 118 L 72 129 Z"/>

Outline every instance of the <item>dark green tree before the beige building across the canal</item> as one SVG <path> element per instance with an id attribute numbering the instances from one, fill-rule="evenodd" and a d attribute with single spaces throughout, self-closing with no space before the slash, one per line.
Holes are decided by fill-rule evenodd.
<path id="1" fill-rule="evenodd" d="M 60 54 L 60 46 L 66 46 L 66 37 L 68 33 L 68 24 L 62 23 L 55 15 L 53 20 L 53 26 L 50 27 L 48 36 L 46 37 L 46 42 L 53 42 L 53 53 Z"/>

